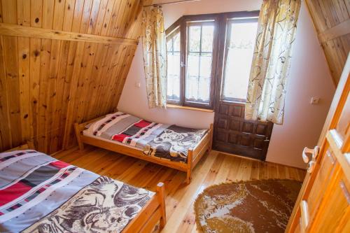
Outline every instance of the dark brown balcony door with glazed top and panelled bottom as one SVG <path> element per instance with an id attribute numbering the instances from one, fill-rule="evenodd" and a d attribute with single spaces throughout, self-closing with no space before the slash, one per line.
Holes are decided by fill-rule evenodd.
<path id="1" fill-rule="evenodd" d="M 219 38 L 214 149 L 265 160 L 272 133 L 271 122 L 244 120 L 244 104 L 258 15 L 221 17 Z"/>

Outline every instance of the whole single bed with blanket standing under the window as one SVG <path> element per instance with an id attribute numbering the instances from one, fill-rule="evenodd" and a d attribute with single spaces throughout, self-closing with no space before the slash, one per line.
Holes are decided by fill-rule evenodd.
<path id="1" fill-rule="evenodd" d="M 202 156 L 211 150 L 213 125 L 190 129 L 149 122 L 123 112 L 74 125 L 80 150 L 84 143 L 166 167 L 186 171 L 186 182 Z"/>

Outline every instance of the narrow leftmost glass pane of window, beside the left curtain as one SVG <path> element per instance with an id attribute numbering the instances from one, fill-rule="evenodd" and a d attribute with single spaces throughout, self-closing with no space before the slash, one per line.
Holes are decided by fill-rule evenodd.
<path id="1" fill-rule="evenodd" d="M 167 99 L 180 100 L 180 33 L 167 41 Z"/>

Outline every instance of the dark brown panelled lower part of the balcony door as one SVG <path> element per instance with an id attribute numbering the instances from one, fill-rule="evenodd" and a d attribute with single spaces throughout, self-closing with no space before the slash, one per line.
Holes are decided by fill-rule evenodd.
<path id="1" fill-rule="evenodd" d="M 244 104 L 220 101 L 214 122 L 214 149 L 265 160 L 272 122 L 244 120 Z"/>

